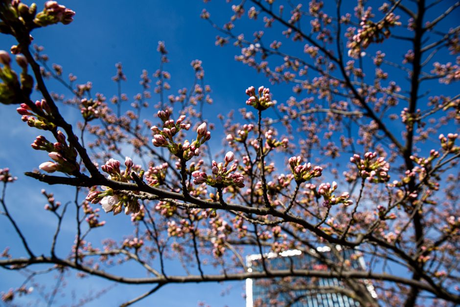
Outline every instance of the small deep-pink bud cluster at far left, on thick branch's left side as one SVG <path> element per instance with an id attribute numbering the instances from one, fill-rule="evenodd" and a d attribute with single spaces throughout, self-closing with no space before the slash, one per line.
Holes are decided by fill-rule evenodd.
<path id="1" fill-rule="evenodd" d="M 51 110 L 45 99 L 35 101 L 35 106 L 39 110 L 38 114 L 34 114 L 32 109 L 25 103 L 21 103 L 21 106 L 16 111 L 22 115 L 22 120 L 27 123 L 29 127 L 35 127 L 42 130 L 52 130 L 56 127 L 52 121 Z"/>

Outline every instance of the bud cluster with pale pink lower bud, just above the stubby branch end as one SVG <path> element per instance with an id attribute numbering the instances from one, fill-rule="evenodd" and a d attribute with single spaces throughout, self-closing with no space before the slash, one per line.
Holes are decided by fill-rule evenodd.
<path id="1" fill-rule="evenodd" d="M 80 165 L 76 161 L 77 151 L 67 144 L 66 136 L 62 131 L 58 130 L 56 134 L 58 142 L 51 143 L 44 136 L 38 136 L 31 144 L 33 149 L 47 151 L 49 158 L 53 160 L 42 163 L 39 168 L 48 173 L 60 171 L 72 174 L 74 171 L 79 171 Z"/>

